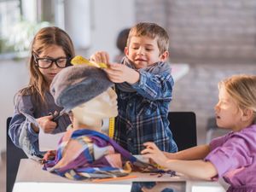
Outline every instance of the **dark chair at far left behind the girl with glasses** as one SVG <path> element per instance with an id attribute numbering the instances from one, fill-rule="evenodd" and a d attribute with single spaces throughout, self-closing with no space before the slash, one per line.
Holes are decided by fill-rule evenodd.
<path id="1" fill-rule="evenodd" d="M 11 117 L 6 120 L 6 191 L 11 192 L 19 169 L 20 159 L 27 158 L 22 149 L 17 148 L 9 137 Z"/>

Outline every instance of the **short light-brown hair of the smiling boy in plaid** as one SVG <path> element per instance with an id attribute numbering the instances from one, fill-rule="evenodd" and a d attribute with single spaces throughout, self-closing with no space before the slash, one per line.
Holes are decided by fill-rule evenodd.
<path id="1" fill-rule="evenodd" d="M 136 26 L 131 27 L 129 36 L 127 38 L 128 47 L 131 43 L 131 37 L 147 36 L 148 38 L 156 38 L 160 55 L 169 49 L 169 36 L 164 28 L 155 23 L 142 22 Z"/>

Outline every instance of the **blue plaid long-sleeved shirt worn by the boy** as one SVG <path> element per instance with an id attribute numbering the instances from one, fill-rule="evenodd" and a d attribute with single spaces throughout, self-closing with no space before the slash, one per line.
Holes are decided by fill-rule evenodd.
<path id="1" fill-rule="evenodd" d="M 163 151 L 177 152 L 167 119 L 174 84 L 171 70 L 139 73 L 139 81 L 131 85 L 135 92 L 116 86 L 119 116 L 115 121 L 114 140 L 132 154 L 140 154 L 145 142 L 154 142 Z"/>

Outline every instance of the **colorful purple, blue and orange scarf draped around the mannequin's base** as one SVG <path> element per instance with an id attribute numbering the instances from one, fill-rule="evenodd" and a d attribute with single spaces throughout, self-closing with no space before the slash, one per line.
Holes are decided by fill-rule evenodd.
<path id="1" fill-rule="evenodd" d="M 97 131 L 68 130 L 61 138 L 55 160 L 47 160 L 44 170 L 75 180 L 123 177 L 135 168 L 154 171 L 132 156 L 113 139 Z"/>

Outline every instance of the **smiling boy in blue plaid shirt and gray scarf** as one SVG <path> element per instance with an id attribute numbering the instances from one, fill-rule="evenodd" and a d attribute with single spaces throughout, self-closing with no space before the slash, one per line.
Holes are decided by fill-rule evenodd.
<path id="1" fill-rule="evenodd" d="M 105 71 L 118 95 L 114 140 L 132 154 L 140 154 L 148 141 L 160 150 L 177 152 L 167 119 L 174 84 L 171 66 L 166 63 L 168 45 L 165 29 L 143 22 L 131 28 L 121 64 L 109 63 L 104 51 L 90 57 L 108 64 Z"/>

